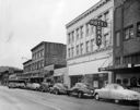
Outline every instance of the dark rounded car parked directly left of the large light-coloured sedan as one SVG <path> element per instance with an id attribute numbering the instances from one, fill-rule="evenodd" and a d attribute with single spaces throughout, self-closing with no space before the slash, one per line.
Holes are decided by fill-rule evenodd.
<path id="1" fill-rule="evenodd" d="M 77 83 L 72 88 L 67 90 L 67 94 L 70 95 L 77 95 L 79 98 L 83 96 L 90 96 L 93 97 L 94 89 L 85 85 L 84 83 Z"/>

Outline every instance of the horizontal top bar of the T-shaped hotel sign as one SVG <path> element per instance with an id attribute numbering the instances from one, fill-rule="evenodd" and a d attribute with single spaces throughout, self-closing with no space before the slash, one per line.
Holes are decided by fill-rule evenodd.
<path id="1" fill-rule="evenodd" d="M 102 20 L 91 20 L 89 24 L 94 26 L 107 27 L 107 22 Z"/>

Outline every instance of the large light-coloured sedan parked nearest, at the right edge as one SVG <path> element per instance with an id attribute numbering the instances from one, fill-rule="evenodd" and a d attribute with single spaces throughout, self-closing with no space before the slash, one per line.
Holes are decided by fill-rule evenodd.
<path id="1" fill-rule="evenodd" d="M 95 89 L 95 99 L 114 99 L 115 102 L 120 100 L 139 100 L 140 93 L 127 89 L 118 84 L 107 84 L 101 89 Z"/>

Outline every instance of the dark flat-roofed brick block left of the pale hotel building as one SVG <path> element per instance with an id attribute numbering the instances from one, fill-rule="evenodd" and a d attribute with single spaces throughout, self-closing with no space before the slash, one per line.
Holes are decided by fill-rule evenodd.
<path id="1" fill-rule="evenodd" d="M 42 82 L 54 69 L 66 66 L 66 45 L 42 41 L 31 49 L 32 60 L 23 63 L 33 82 Z"/>

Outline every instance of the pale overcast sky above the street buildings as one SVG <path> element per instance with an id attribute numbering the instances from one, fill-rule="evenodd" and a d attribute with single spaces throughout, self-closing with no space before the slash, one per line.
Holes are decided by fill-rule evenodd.
<path id="1" fill-rule="evenodd" d="M 0 0 L 0 66 L 23 68 L 40 41 L 66 44 L 66 24 L 100 0 Z"/>

